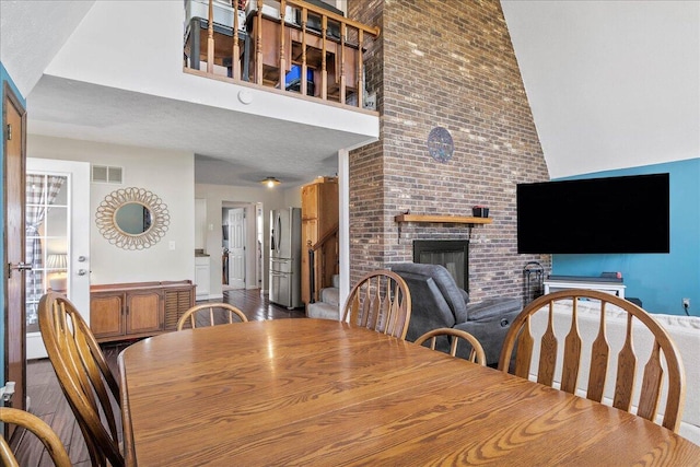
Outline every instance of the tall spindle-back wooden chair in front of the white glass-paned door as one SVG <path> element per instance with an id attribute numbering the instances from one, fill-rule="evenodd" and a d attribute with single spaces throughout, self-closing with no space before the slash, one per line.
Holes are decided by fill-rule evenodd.
<path id="1" fill-rule="evenodd" d="M 109 462 L 113 467 L 124 466 L 114 409 L 119 410 L 119 387 L 90 327 L 75 306 L 56 292 L 42 296 L 38 312 L 46 352 L 83 433 L 92 465 Z"/>

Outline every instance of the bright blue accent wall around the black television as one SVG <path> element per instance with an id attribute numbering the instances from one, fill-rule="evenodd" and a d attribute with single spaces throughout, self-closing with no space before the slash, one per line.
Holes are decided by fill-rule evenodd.
<path id="1" fill-rule="evenodd" d="M 650 313 L 700 315 L 700 159 L 597 172 L 561 179 L 668 173 L 670 183 L 670 253 L 625 255 L 552 255 L 552 273 L 599 276 L 620 271 L 626 297 L 638 297 Z M 595 222 L 592 214 L 591 222 Z M 649 213 L 654 222 L 654 213 Z M 600 225 L 604 229 L 604 225 Z"/>

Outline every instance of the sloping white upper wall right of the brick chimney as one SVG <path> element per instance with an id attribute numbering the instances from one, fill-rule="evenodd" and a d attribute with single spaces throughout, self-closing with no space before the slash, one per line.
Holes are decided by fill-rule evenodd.
<path id="1" fill-rule="evenodd" d="M 501 5 L 550 177 L 700 155 L 700 2 Z"/>

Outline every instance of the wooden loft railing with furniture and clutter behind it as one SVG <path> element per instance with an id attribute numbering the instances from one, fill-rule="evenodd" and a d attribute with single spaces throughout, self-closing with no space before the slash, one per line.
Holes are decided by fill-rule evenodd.
<path id="1" fill-rule="evenodd" d="M 303 0 L 233 1 L 186 3 L 186 72 L 363 108 L 364 44 L 378 27 Z"/>

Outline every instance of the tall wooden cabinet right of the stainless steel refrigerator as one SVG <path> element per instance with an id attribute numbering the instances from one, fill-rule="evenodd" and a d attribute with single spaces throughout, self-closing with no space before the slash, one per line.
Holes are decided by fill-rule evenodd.
<path id="1" fill-rule="evenodd" d="M 323 243 L 318 243 L 323 241 Z M 311 296 L 310 247 L 314 249 L 314 293 L 338 273 L 338 178 L 319 177 L 302 187 L 302 302 Z"/>

